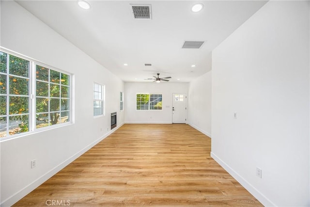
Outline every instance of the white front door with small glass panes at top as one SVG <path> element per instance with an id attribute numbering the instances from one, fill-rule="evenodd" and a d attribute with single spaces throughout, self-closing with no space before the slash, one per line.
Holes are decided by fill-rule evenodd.
<path id="1" fill-rule="evenodd" d="M 172 123 L 186 123 L 186 94 L 172 94 Z"/>

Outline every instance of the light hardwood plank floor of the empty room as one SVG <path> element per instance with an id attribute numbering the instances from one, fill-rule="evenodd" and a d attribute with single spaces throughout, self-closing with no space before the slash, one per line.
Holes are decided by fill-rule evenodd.
<path id="1" fill-rule="evenodd" d="M 185 124 L 125 124 L 15 206 L 262 206 L 210 151 Z"/>

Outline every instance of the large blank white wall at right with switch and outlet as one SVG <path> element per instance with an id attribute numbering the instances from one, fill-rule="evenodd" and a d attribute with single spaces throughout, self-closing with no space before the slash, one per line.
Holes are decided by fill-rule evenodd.
<path id="1" fill-rule="evenodd" d="M 309 35 L 309 1 L 269 1 L 213 51 L 212 157 L 265 206 L 310 206 Z"/>

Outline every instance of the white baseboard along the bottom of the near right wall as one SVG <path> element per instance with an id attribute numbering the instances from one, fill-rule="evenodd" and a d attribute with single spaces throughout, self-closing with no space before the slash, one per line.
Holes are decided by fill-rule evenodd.
<path id="1" fill-rule="evenodd" d="M 228 164 L 223 160 L 218 158 L 213 152 L 211 152 L 211 158 L 217 161 L 217 163 L 222 166 L 230 175 L 233 176 L 245 189 L 247 189 L 259 202 L 261 202 L 265 207 L 276 207 L 273 202 L 271 202 L 266 196 L 260 191 L 254 188 L 248 181 L 246 181 L 241 175 L 233 170 Z"/>

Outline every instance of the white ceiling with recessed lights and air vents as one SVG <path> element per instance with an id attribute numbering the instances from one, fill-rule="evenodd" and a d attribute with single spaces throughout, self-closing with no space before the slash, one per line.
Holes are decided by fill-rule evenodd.
<path id="1" fill-rule="evenodd" d="M 122 80 L 143 82 L 156 73 L 188 82 L 210 71 L 211 51 L 266 3 L 199 1 L 204 8 L 193 13 L 194 0 L 88 0 L 90 10 L 76 0 L 17 2 Z M 133 3 L 151 4 L 152 20 L 134 19 Z M 185 40 L 205 43 L 183 49 Z"/>

